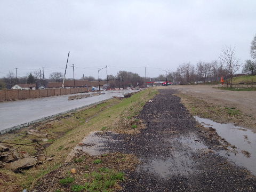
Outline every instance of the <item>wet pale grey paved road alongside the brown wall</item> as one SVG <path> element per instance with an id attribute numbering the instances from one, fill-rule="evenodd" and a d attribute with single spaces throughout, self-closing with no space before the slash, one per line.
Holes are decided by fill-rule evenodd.
<path id="1" fill-rule="evenodd" d="M 20 100 L 0 103 L 0 132 L 18 128 L 22 124 L 63 113 L 83 106 L 89 106 L 111 97 L 135 92 L 134 90 L 106 91 L 106 94 L 68 101 L 70 95 Z M 72 94 L 74 95 L 74 94 Z M 4 130 L 4 131 L 3 131 Z"/>

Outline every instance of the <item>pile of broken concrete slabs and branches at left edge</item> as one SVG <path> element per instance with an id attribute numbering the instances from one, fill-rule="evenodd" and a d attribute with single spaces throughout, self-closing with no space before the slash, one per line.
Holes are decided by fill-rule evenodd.
<path id="1" fill-rule="evenodd" d="M 40 151 L 41 154 L 30 155 L 26 151 L 21 150 L 22 146 L 33 147 L 36 151 Z M 46 150 L 39 143 L 31 142 L 21 144 L 0 142 L 0 168 L 13 171 L 20 170 L 41 163 L 45 161 L 46 158 Z"/>

